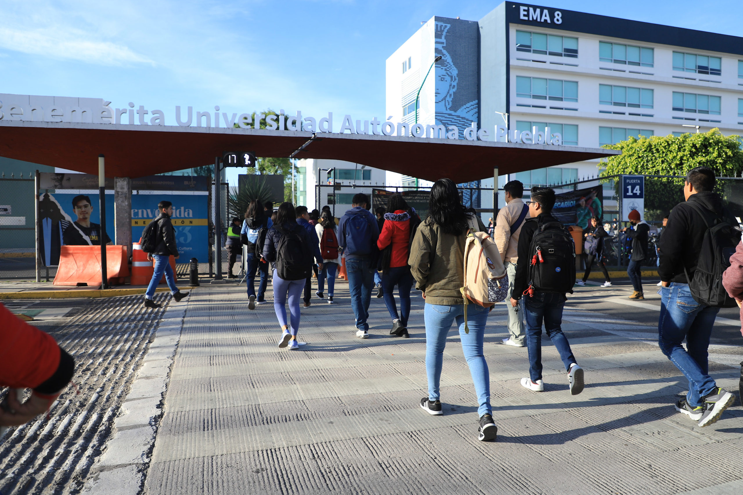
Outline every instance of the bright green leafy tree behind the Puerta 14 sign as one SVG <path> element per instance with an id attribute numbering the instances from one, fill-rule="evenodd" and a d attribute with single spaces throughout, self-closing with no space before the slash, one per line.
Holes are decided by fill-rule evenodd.
<path id="1" fill-rule="evenodd" d="M 718 128 L 709 132 L 681 134 L 675 137 L 630 137 L 603 148 L 621 150 L 622 154 L 602 160 L 606 166 L 602 177 L 618 174 L 686 175 L 692 168 L 704 165 L 712 168 L 718 177 L 731 177 L 743 170 L 743 150 L 738 136 L 723 136 Z M 667 213 L 684 201 L 684 179 L 647 177 L 645 180 L 646 216 Z M 619 181 L 615 187 L 619 187 Z M 718 183 L 718 192 L 726 196 L 724 184 Z M 617 191 L 618 194 L 619 191 Z"/>

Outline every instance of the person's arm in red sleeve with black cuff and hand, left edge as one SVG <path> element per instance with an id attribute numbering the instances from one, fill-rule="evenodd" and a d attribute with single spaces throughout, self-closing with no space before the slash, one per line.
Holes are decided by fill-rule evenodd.
<path id="1" fill-rule="evenodd" d="M 19 426 L 48 410 L 74 371 L 74 359 L 51 335 L 0 303 L 0 387 L 11 389 L 0 404 L 0 427 Z M 26 388 L 33 393 L 22 403 L 16 390 Z"/>

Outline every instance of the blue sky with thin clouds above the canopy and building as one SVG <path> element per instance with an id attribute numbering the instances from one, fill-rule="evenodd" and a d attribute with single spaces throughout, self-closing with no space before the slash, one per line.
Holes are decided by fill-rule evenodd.
<path id="1" fill-rule="evenodd" d="M 175 105 L 384 119 L 385 61 L 421 21 L 478 20 L 498 4 L 2 0 L 0 93 L 131 101 L 163 109 L 168 125 Z M 544 5 L 743 35 L 739 0 Z"/>

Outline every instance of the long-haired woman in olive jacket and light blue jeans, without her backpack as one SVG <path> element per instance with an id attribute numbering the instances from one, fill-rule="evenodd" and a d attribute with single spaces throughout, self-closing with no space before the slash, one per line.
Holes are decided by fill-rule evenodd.
<path id="1" fill-rule="evenodd" d="M 464 285 L 464 244 L 468 224 L 476 221 L 485 232 L 482 220 L 459 203 L 456 185 L 449 179 L 437 180 L 431 188 L 429 217 L 421 223 L 410 249 L 410 271 L 426 301 L 426 376 L 428 395 L 421 408 L 432 415 L 444 413 L 441 407 L 441 368 L 447 334 L 456 321 L 464 358 L 470 367 L 480 417 L 478 439 L 496 438 L 498 428 L 490 407 L 490 373 L 482 350 L 489 309 L 462 303 L 459 289 Z M 465 331 L 464 312 L 467 311 Z"/>

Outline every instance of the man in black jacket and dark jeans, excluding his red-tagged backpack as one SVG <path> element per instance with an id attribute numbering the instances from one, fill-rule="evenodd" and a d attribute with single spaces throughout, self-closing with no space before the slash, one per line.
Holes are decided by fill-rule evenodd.
<path id="1" fill-rule="evenodd" d="M 552 208 L 555 204 L 555 191 L 548 187 L 533 187 L 531 189 L 531 201 L 525 202 L 529 206 L 529 218 L 524 222 L 519 234 L 519 244 L 516 247 L 518 254 L 516 260 L 516 281 L 513 283 L 510 304 L 516 307 L 519 299 L 529 289 L 529 263 L 534 253 L 531 252 L 531 240 L 536 229 L 548 222 L 559 222 L 552 216 Z M 574 250 L 565 253 L 571 263 L 574 263 Z M 522 378 L 522 387 L 542 392 L 545 385 L 542 382 L 542 321 L 545 324 L 545 332 L 552 344 L 557 349 L 562 364 L 568 372 L 568 383 L 570 393 L 577 395 L 583 392 L 583 368 L 578 366 L 575 356 L 568 343 L 568 338 L 562 333 L 562 308 L 565 306 L 565 292 L 534 292 L 524 297 L 524 317 L 526 320 L 526 347 L 529 354 L 529 377 Z"/>

